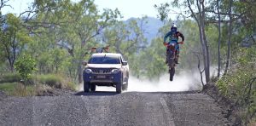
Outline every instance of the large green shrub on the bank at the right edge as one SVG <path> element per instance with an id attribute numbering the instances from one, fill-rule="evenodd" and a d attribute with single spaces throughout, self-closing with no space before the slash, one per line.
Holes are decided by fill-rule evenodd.
<path id="1" fill-rule="evenodd" d="M 236 64 L 230 67 L 217 82 L 218 89 L 225 97 L 234 101 L 239 116 L 247 125 L 256 118 L 256 54 L 255 49 L 240 49 Z"/>

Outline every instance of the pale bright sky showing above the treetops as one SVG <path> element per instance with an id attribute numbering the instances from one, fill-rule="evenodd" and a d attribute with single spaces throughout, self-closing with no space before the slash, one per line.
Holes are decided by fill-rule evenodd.
<path id="1" fill-rule="evenodd" d="M 20 14 L 27 9 L 33 0 L 9 0 L 9 7 L 3 8 L 3 14 L 15 13 Z M 79 1 L 79 0 L 73 0 Z M 142 17 L 147 15 L 149 17 L 157 17 L 157 10 L 154 9 L 154 4 L 170 2 L 170 0 L 95 0 L 96 5 L 102 9 L 116 9 L 118 8 L 124 19 L 127 20 L 131 17 Z"/>

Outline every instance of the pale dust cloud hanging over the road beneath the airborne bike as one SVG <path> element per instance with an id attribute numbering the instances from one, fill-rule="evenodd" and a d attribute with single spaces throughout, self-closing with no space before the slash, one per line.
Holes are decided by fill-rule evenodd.
<path id="1" fill-rule="evenodd" d="M 136 77 L 130 77 L 128 91 L 140 92 L 177 92 L 200 90 L 201 84 L 199 75 L 195 74 L 180 74 L 175 75 L 172 82 L 169 81 L 169 75 L 160 77 L 160 81 L 152 82 L 148 80 L 140 80 Z"/>

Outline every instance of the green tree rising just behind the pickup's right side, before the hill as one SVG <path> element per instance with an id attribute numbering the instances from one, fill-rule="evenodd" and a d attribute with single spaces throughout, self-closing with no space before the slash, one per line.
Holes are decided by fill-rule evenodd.
<path id="1" fill-rule="evenodd" d="M 131 74 L 140 77 L 141 62 L 138 55 L 147 48 L 147 39 L 144 37 L 144 26 L 147 24 L 147 17 L 129 20 L 126 24 L 123 21 L 108 27 L 102 36 L 102 42 L 110 45 L 113 52 L 123 54 L 125 60 L 129 60 Z"/>

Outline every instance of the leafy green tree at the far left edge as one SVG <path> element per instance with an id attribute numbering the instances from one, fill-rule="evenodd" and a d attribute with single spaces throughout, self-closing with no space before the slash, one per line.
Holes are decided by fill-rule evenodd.
<path id="1" fill-rule="evenodd" d="M 5 60 L 9 62 L 9 70 L 14 72 L 17 55 L 22 52 L 26 43 L 31 42 L 31 39 L 19 18 L 14 14 L 7 14 L 5 17 L 6 22 L 4 22 L 4 28 L 1 31 L 0 49 L 3 50 Z"/>

